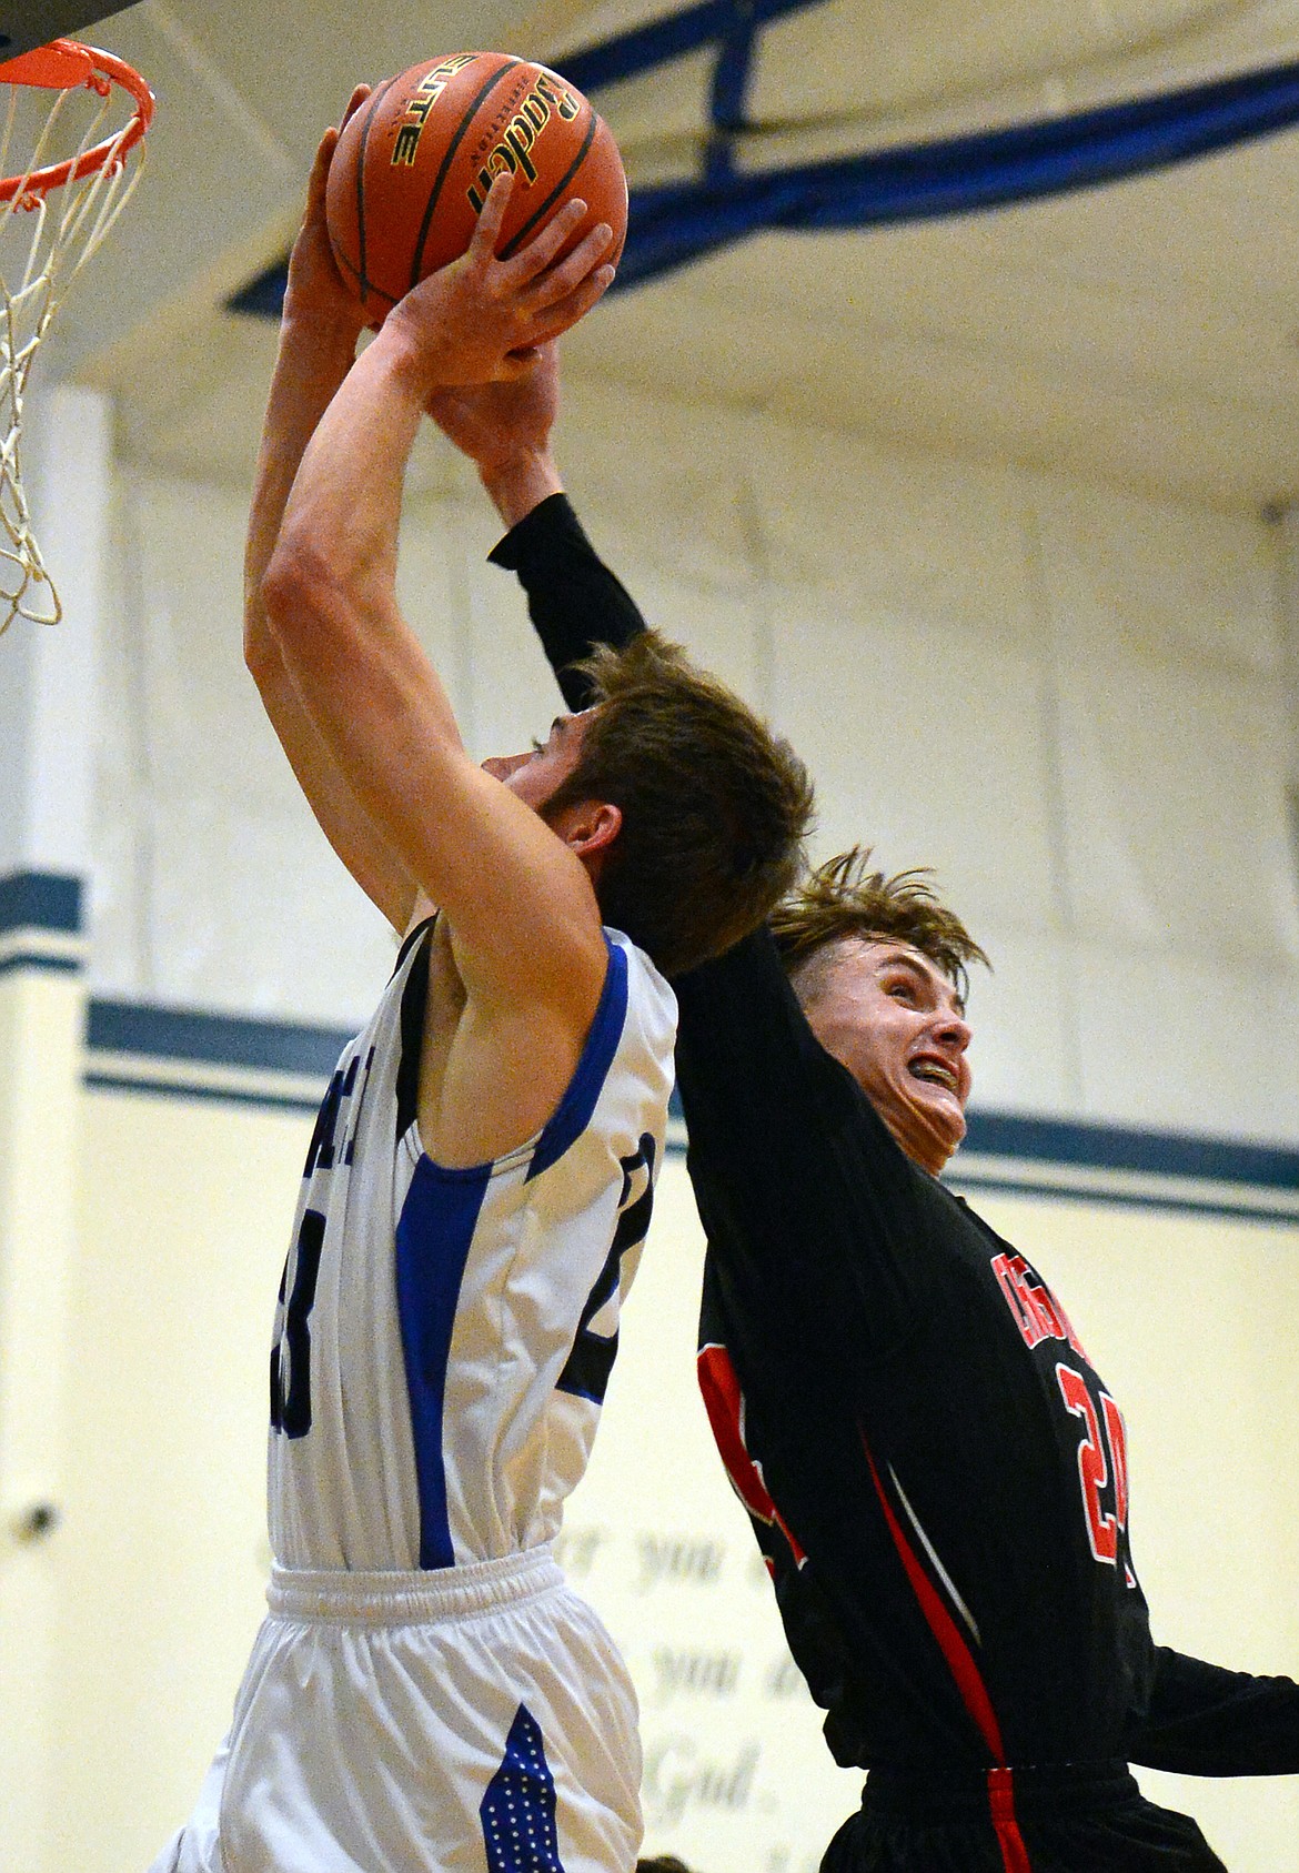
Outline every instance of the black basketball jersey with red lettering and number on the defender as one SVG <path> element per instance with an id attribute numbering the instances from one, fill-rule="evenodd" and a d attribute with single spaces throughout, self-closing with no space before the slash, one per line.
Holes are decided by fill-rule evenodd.
<path id="1" fill-rule="evenodd" d="M 766 931 L 679 1000 L 700 1384 L 837 1759 L 1123 1755 L 1153 1648 L 1069 1317 L 895 1144 Z"/>

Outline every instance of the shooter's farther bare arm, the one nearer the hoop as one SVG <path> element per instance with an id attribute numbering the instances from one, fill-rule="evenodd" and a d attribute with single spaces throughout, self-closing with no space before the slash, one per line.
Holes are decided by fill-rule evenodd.
<path id="1" fill-rule="evenodd" d="M 367 94 L 367 86 L 358 86 L 344 124 Z M 243 659 L 329 845 L 389 923 L 404 929 L 416 903 L 414 878 L 320 740 L 262 601 L 262 577 L 279 539 L 298 465 L 333 393 L 352 369 L 356 341 L 365 324 L 365 313 L 339 279 L 326 234 L 324 193 L 335 142 L 337 131 L 326 131 L 316 150 L 307 208 L 288 262 L 288 290 L 243 560 Z"/>

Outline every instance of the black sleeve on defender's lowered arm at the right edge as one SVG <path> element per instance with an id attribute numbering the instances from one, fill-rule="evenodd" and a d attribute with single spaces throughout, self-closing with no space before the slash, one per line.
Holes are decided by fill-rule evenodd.
<path id="1" fill-rule="evenodd" d="M 1295 1776 L 1299 1684 L 1155 1646 L 1149 1706 L 1132 1725 L 1127 1755 L 1177 1776 Z"/>

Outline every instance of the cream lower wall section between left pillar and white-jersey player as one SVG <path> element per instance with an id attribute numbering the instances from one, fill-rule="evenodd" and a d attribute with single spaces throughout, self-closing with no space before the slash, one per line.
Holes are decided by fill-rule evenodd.
<path id="1" fill-rule="evenodd" d="M 266 1373 L 309 1131 L 86 1096 L 49 1873 L 148 1866 L 221 1740 L 270 1564 Z"/>

